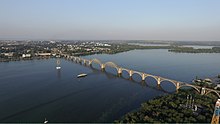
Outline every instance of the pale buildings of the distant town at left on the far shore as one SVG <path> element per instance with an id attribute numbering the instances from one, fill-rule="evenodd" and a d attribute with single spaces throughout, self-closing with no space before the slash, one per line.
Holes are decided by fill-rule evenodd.
<path id="1" fill-rule="evenodd" d="M 75 56 L 108 53 L 110 44 L 101 42 L 1 41 L 0 61 L 49 58 L 65 53 Z"/>

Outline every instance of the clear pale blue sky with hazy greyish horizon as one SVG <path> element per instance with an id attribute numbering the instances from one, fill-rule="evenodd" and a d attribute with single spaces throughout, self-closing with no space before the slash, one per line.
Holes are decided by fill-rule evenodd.
<path id="1" fill-rule="evenodd" d="M 220 0 L 0 0 L 0 39 L 220 41 Z"/>

